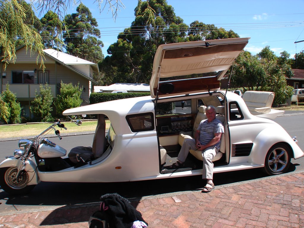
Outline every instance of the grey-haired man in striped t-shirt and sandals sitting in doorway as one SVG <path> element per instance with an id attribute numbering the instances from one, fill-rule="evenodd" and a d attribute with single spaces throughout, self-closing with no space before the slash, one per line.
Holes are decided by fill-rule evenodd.
<path id="1" fill-rule="evenodd" d="M 203 175 L 207 184 L 202 189 L 202 192 L 210 192 L 214 188 L 213 184 L 213 163 L 212 159 L 219 151 L 222 133 L 224 127 L 220 120 L 216 119 L 216 108 L 208 106 L 206 108 L 206 117 L 199 124 L 195 139 L 185 139 L 184 144 L 178 154 L 178 161 L 170 166 L 170 168 L 182 168 L 188 156 L 189 150 L 202 150 L 203 156 Z"/>

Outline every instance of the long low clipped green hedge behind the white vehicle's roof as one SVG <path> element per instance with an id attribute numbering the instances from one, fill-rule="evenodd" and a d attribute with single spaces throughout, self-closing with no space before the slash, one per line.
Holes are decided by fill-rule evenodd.
<path id="1" fill-rule="evenodd" d="M 106 101 L 114 101 L 124 98 L 132 98 L 132 97 L 143 97 L 149 96 L 150 92 L 147 93 L 91 93 L 90 95 L 90 104 L 106 102 Z"/>

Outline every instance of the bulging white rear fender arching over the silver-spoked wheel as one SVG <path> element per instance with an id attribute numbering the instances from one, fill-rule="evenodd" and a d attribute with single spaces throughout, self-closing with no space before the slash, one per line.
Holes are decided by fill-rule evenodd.
<path id="1" fill-rule="evenodd" d="M 287 143 L 292 152 L 292 157 L 299 158 L 304 155 L 300 147 L 293 141 L 281 126 L 271 126 L 262 130 L 253 142 L 249 162 L 253 164 L 264 164 L 268 150 L 276 143 Z"/>

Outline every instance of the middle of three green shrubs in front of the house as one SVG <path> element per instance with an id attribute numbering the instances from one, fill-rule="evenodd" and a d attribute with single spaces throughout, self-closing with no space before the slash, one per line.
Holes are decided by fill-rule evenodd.
<path id="1" fill-rule="evenodd" d="M 35 99 L 31 102 L 31 112 L 38 121 L 48 122 L 53 120 L 51 112 L 53 111 L 53 93 L 51 87 L 40 84 L 40 91 L 35 91 Z"/>

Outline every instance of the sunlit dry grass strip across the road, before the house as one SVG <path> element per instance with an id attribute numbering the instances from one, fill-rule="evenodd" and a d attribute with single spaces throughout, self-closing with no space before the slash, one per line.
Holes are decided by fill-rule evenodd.
<path id="1" fill-rule="evenodd" d="M 73 133 L 73 132 L 88 132 L 95 131 L 97 120 L 83 121 L 81 126 L 77 126 L 71 122 L 63 122 L 67 130 L 60 130 L 57 126 L 56 129 L 60 130 L 60 134 Z M 0 138 L 34 136 L 40 134 L 43 130 L 47 129 L 51 123 L 37 123 L 37 124 L 17 124 L 17 125 L 0 125 Z M 106 120 L 106 129 L 109 129 L 110 121 Z M 50 131 L 54 134 L 54 130 Z"/>

